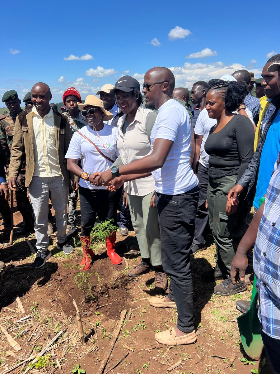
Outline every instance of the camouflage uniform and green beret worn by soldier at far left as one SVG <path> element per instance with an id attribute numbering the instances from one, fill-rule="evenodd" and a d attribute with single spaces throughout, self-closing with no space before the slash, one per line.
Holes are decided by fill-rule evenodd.
<path id="1" fill-rule="evenodd" d="M 7 91 L 6 93 L 4 93 L 2 101 L 9 101 L 15 98 L 18 98 L 18 94 L 16 93 L 16 91 Z M 22 111 L 23 110 L 21 110 L 21 112 Z M 12 153 L 15 119 L 16 118 L 12 115 L 12 113 L 5 114 L 4 116 L 0 117 L 0 143 L 1 148 L 3 148 L 6 168 L 9 168 L 10 164 L 10 154 Z M 21 174 L 25 176 L 25 164 L 22 165 Z M 27 187 L 19 186 L 19 190 L 15 192 L 15 197 L 16 205 L 24 219 L 24 224 L 28 227 L 32 227 L 34 218 L 31 204 L 27 197 Z"/>

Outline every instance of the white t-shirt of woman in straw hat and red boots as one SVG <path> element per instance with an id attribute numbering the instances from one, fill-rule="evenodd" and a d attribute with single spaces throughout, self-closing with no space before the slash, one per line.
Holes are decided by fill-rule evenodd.
<path id="1" fill-rule="evenodd" d="M 118 140 L 118 129 L 116 127 L 104 124 L 102 130 L 96 132 L 91 130 L 87 125 L 79 130 L 100 149 L 100 151 L 112 160 L 116 160 L 119 156 L 119 151 L 116 148 Z M 101 139 L 100 139 L 101 138 Z M 80 159 L 82 158 L 82 169 L 88 174 L 96 171 L 103 172 L 108 170 L 113 164 L 97 151 L 87 139 L 83 138 L 78 132 L 74 132 L 69 144 L 68 151 L 65 155 L 66 159 Z M 89 181 L 80 178 L 80 186 L 90 188 L 91 190 L 106 190 L 105 186 L 93 186 Z"/>

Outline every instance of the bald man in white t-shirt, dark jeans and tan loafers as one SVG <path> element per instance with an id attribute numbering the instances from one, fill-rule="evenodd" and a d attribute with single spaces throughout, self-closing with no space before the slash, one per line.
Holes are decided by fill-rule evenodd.
<path id="1" fill-rule="evenodd" d="M 116 177 L 112 181 L 114 186 L 149 172 L 155 179 L 156 193 L 151 206 L 158 208 L 162 266 L 170 283 L 168 295 L 152 297 L 149 303 L 159 308 L 177 307 L 177 326 L 155 335 L 159 343 L 168 346 L 196 341 L 190 270 L 199 195 L 198 180 L 191 168 L 195 141 L 186 108 L 172 99 L 174 86 L 175 77 L 168 68 L 147 71 L 143 84 L 146 108 L 158 110 L 151 133 L 152 151 L 142 159 L 111 169 L 112 178 Z M 100 183 L 108 182 L 101 174 Z"/>

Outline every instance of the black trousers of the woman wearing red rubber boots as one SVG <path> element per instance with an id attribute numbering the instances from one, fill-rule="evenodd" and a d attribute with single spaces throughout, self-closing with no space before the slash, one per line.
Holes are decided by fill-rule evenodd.
<path id="1" fill-rule="evenodd" d="M 96 221 L 113 220 L 116 224 L 116 215 L 122 187 L 116 192 L 106 190 L 91 190 L 79 187 L 81 206 L 81 236 L 89 236 Z"/>

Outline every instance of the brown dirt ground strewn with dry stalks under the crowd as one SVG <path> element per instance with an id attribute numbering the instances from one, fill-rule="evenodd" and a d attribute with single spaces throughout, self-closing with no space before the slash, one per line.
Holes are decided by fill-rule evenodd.
<path id="1" fill-rule="evenodd" d="M 14 213 L 15 225 L 21 215 Z M 1 230 L 2 229 L 2 230 Z M 12 373 L 70 373 L 80 365 L 87 374 L 98 373 L 122 310 L 127 310 L 124 323 L 104 373 L 115 374 L 250 374 L 260 373 L 264 357 L 251 361 L 240 345 L 235 307 L 238 299 L 250 300 L 250 289 L 242 294 L 222 297 L 213 294 L 215 283 L 200 281 L 202 272 L 215 263 L 211 235 L 208 249 L 192 258 L 197 342 L 188 346 L 167 347 L 156 343 L 155 332 L 173 327 L 176 309 L 155 309 L 148 299 L 155 295 L 154 273 L 132 279 L 128 270 L 140 257 L 128 254 L 134 232 L 127 237 L 117 235 L 116 251 L 123 261 L 113 266 L 106 255 L 105 244 L 94 249 L 94 263 L 88 272 L 79 272 L 82 259 L 78 236 L 72 239 L 74 254 L 66 256 L 56 249 L 55 235 L 50 237 L 52 257 L 46 266 L 33 269 L 34 255 L 25 237 L 16 238 L 9 246 L 9 237 L 0 226 L 0 260 L 10 264 L 0 283 L 0 327 L 20 345 L 12 349 L 0 333 L 0 372 L 19 364 L 29 355 L 38 354 L 60 331 L 53 346 L 37 362 L 22 371 L 19 365 Z M 28 237 L 35 247 L 34 234 Z M 6 244 L 5 244 L 6 243 Z M 19 297 L 24 311 L 16 302 Z M 80 309 L 86 343 L 80 343 L 73 299 Z M 26 319 L 23 319 L 24 317 Z M 23 320 L 22 320 L 23 319 Z M 32 353 L 30 353 L 32 351 Z M 240 359 L 248 361 L 242 362 Z M 121 361 L 121 362 L 120 362 Z M 32 362 L 32 361 L 29 361 Z M 265 363 L 263 374 L 273 373 Z M 78 373 L 78 371 L 77 371 Z"/>

